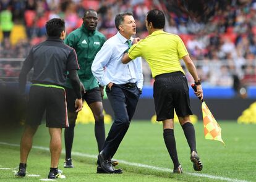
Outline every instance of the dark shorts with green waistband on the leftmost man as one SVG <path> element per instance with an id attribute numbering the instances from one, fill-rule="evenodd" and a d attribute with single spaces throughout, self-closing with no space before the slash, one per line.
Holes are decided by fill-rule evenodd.
<path id="1" fill-rule="evenodd" d="M 28 125 L 40 125 L 46 111 L 46 127 L 66 128 L 67 105 L 65 89 L 54 85 L 32 85 L 29 92 L 27 120 Z"/>

